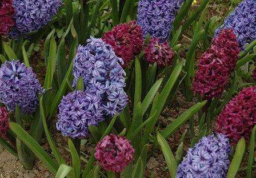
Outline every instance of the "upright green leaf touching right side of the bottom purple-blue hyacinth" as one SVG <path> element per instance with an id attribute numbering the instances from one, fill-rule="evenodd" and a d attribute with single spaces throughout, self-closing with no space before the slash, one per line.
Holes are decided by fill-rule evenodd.
<path id="1" fill-rule="evenodd" d="M 243 153 L 245 153 L 245 139 L 242 137 L 237 143 L 237 148 L 235 148 L 235 155 L 227 172 L 227 178 L 234 178 L 237 175 L 238 168 L 243 159 Z"/>

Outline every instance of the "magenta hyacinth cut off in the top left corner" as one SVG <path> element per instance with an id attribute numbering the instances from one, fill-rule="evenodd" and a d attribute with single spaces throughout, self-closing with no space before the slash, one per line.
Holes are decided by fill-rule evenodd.
<path id="1" fill-rule="evenodd" d="M 15 25 L 13 20 L 13 0 L 2 0 L 0 2 L 0 35 L 7 35 Z"/>

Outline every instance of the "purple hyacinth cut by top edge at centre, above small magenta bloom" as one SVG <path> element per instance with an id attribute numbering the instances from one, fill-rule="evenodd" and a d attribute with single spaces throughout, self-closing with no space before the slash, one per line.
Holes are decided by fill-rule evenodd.
<path id="1" fill-rule="evenodd" d="M 184 0 L 141 0 L 138 5 L 138 25 L 143 37 L 168 39 L 173 21 Z"/>

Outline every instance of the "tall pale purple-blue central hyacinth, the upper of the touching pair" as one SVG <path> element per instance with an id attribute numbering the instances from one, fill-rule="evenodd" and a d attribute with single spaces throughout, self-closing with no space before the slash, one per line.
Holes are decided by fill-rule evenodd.
<path id="1" fill-rule="evenodd" d="M 79 45 L 74 59 L 74 83 L 83 78 L 85 91 L 99 96 L 104 114 L 113 116 L 122 112 L 127 104 L 123 60 L 112 47 L 101 39 L 90 38 L 86 46 Z"/>

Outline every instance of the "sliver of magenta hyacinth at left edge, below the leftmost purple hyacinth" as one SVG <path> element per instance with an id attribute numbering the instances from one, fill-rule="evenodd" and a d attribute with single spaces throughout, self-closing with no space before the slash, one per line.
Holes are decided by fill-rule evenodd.
<path id="1" fill-rule="evenodd" d="M 9 127 L 8 112 L 5 107 L 0 107 L 0 137 L 6 135 Z"/>

